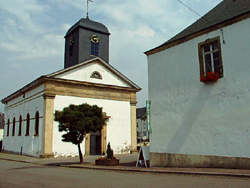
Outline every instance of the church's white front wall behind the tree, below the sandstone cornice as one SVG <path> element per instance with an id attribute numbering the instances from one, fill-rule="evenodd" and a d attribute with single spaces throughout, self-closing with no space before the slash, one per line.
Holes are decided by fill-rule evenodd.
<path id="1" fill-rule="evenodd" d="M 131 145 L 131 118 L 130 103 L 115 100 L 80 98 L 71 96 L 56 96 L 55 110 L 62 110 L 70 104 L 88 103 L 103 108 L 107 116 L 111 118 L 107 122 L 107 143 L 110 142 L 115 153 L 120 153 L 126 146 Z M 53 151 L 55 155 L 78 155 L 77 146 L 61 141 L 62 132 L 58 131 L 58 123 L 54 122 Z M 85 148 L 82 143 L 82 152 Z"/>

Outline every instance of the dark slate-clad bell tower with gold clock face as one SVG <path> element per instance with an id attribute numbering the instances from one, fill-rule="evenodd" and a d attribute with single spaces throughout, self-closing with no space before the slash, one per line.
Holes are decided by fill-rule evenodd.
<path id="1" fill-rule="evenodd" d="M 100 57 L 109 62 L 109 31 L 102 23 L 80 19 L 65 35 L 64 68 L 91 58 Z"/>

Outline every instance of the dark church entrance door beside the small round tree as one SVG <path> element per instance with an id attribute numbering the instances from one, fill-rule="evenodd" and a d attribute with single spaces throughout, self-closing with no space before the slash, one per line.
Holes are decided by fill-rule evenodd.
<path id="1" fill-rule="evenodd" d="M 102 136 L 100 131 L 90 134 L 90 155 L 102 154 Z"/>

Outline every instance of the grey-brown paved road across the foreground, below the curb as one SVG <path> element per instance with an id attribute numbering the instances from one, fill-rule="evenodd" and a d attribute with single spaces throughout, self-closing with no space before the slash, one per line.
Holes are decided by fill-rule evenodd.
<path id="1" fill-rule="evenodd" d="M 112 172 L 0 160 L 0 188 L 250 188 L 250 179 Z"/>

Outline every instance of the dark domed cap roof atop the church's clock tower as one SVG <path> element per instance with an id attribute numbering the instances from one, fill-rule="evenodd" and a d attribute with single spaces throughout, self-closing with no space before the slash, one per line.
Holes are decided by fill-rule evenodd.
<path id="1" fill-rule="evenodd" d="M 108 35 L 110 34 L 108 28 L 102 23 L 92 21 L 89 18 L 82 18 L 67 31 L 66 36 L 78 27 L 82 27 L 84 29 L 97 31 Z"/>

